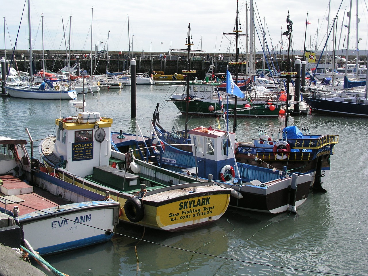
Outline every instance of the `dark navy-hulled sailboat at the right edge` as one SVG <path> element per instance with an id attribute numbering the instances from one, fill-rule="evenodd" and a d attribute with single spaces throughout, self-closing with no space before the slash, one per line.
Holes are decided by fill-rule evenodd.
<path id="1" fill-rule="evenodd" d="M 353 1 L 350 0 L 350 14 Z M 358 21 L 357 21 L 358 22 Z M 351 17 L 348 22 L 348 35 L 346 54 L 349 52 L 349 35 L 350 35 Z M 357 24 L 358 32 L 358 24 Z M 359 53 L 359 50 L 357 50 Z M 348 56 L 347 56 L 348 57 Z M 359 59 L 359 56 L 358 56 Z M 357 68 L 359 61 L 357 61 Z M 343 91 L 330 95 L 330 93 L 311 93 L 311 95 L 304 97 L 305 101 L 311 106 L 312 110 L 322 114 L 334 114 L 340 116 L 353 117 L 368 117 L 368 74 L 365 81 L 360 81 L 358 70 L 356 71 L 356 81 L 351 81 L 347 78 L 348 59 L 345 60 L 345 74 Z M 366 71 L 367 72 L 367 71 Z M 354 87 L 359 87 L 355 89 Z M 365 89 L 364 89 L 365 86 Z M 363 88 L 362 88 L 363 87 Z M 313 92 L 313 88 L 311 89 Z M 347 95 L 350 94 L 350 95 Z"/>

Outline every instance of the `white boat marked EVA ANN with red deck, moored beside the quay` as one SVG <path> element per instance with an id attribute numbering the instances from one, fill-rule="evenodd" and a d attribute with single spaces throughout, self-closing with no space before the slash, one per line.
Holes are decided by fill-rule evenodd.
<path id="1" fill-rule="evenodd" d="M 47 255 L 111 240 L 120 204 L 112 200 L 66 200 L 73 191 L 58 190 L 47 181 L 46 173 L 39 171 L 38 160 L 29 158 L 26 144 L 26 140 L 0 136 L 0 212 L 9 216 L 10 231 L 22 230 L 25 241 L 13 236 L 17 247 L 30 245 L 40 255 Z"/>

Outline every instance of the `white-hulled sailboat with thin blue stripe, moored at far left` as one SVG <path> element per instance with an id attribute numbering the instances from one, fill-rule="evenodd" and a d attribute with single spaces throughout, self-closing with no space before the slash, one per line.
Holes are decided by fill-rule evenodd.
<path id="1" fill-rule="evenodd" d="M 42 21 L 43 24 L 43 21 Z M 43 28 L 42 28 L 43 29 Z M 28 0 L 28 30 L 29 30 L 29 66 L 32 75 L 32 39 L 31 39 L 31 18 L 30 5 Z M 43 43 L 42 43 L 43 45 Z M 43 56 L 45 58 L 45 56 Z M 61 79 L 44 80 L 40 85 L 33 85 L 31 78 L 30 86 L 5 86 L 8 94 L 14 98 L 24 99 L 77 99 L 77 92 L 69 89 L 69 86 L 61 84 Z"/>

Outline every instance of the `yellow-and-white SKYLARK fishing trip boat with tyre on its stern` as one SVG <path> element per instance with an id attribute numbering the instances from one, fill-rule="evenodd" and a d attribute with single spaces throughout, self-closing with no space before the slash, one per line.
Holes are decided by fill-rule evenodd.
<path id="1" fill-rule="evenodd" d="M 39 146 L 47 171 L 84 193 L 108 191 L 120 202 L 124 222 L 178 231 L 219 219 L 229 205 L 231 189 L 112 150 L 111 118 L 79 112 L 55 122 L 56 137 Z"/>

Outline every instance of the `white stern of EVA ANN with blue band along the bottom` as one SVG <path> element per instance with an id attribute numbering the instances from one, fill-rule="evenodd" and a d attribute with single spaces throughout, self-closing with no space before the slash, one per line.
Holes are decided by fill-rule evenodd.
<path id="1" fill-rule="evenodd" d="M 111 240 L 120 204 L 89 201 L 61 205 L 19 217 L 24 238 L 40 255 Z"/>

